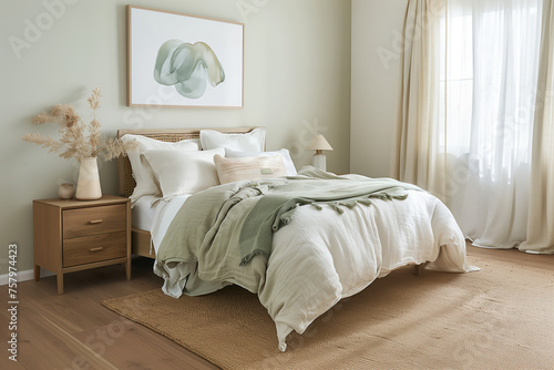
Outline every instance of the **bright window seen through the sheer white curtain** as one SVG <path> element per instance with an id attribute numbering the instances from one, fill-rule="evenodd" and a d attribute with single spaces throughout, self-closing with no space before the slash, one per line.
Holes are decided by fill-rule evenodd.
<path id="1" fill-rule="evenodd" d="M 448 2 L 441 40 L 441 151 L 481 178 L 531 163 L 542 1 Z"/>

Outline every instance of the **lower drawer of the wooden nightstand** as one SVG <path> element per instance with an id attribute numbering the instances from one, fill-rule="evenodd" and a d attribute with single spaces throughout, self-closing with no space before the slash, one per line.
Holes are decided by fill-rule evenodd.
<path id="1" fill-rule="evenodd" d="M 126 255 L 126 232 L 63 240 L 63 267 L 114 259 Z"/>

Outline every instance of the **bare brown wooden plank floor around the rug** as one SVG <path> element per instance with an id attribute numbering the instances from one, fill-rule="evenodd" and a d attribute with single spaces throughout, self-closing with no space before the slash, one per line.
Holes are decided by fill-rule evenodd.
<path id="1" fill-rule="evenodd" d="M 468 255 L 554 268 L 554 256 L 468 247 Z M 65 294 L 55 277 L 18 287 L 18 362 L 8 359 L 8 310 L 0 314 L 0 369 L 217 369 L 181 346 L 104 308 L 104 299 L 160 288 L 152 260 L 133 260 L 133 279 L 121 266 L 69 274 Z M 8 287 L 0 287 L 8 297 Z M 8 299 L 6 299 L 8 301 Z M 186 315 L 186 314 L 184 314 Z M 8 353 L 8 354 L 7 354 Z"/>

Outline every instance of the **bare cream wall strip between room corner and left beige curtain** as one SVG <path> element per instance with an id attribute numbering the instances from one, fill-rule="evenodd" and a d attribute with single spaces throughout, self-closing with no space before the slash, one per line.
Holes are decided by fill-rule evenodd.
<path id="1" fill-rule="evenodd" d="M 391 175 L 408 0 L 352 0 L 350 171 Z"/>

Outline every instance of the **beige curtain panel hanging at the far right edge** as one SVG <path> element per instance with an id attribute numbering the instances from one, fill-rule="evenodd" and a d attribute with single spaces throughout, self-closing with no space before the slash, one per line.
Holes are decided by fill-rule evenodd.
<path id="1" fill-rule="evenodd" d="M 520 250 L 554 254 L 554 6 L 544 1 L 527 240 Z"/>

